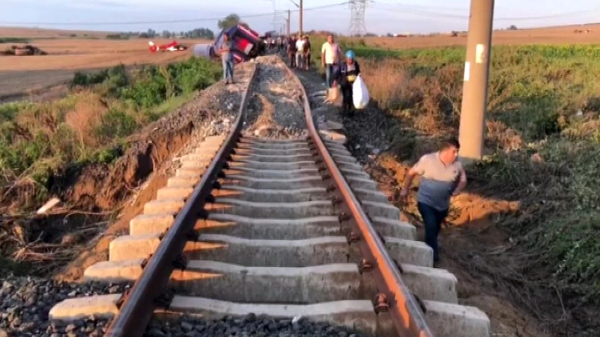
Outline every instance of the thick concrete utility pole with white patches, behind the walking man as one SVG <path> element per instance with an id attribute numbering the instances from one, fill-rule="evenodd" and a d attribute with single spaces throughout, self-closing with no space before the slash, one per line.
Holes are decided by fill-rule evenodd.
<path id="1" fill-rule="evenodd" d="M 471 0 L 458 131 L 459 157 L 465 160 L 479 160 L 483 152 L 493 17 L 494 0 Z"/>

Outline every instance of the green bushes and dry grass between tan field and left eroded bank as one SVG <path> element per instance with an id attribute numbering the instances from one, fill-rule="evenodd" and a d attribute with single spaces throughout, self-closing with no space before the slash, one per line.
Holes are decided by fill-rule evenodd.
<path id="1" fill-rule="evenodd" d="M 72 167 L 110 163 L 127 139 L 220 77 L 207 59 L 149 65 L 132 74 L 123 65 L 76 73 L 71 94 L 52 103 L 0 105 L 0 199 L 28 210 L 45 201 L 52 177 Z M 31 186 L 34 198 L 13 200 L 11 188 Z"/>

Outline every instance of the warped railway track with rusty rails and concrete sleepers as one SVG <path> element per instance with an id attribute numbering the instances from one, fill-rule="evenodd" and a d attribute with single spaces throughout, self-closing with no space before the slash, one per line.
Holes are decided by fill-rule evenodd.
<path id="1" fill-rule="evenodd" d="M 321 139 L 301 83 L 286 71 L 301 89 L 308 137 L 245 133 L 248 83 L 230 133 L 181 158 L 130 234 L 113 240 L 109 260 L 85 272 L 136 280 L 131 290 L 64 300 L 50 318 L 114 316 L 109 336 L 140 336 L 152 317 L 248 314 L 368 336 L 489 335 L 487 315 L 457 304 L 457 279 L 432 267 L 415 227 L 343 144 Z M 208 331 L 187 333 L 224 335 Z"/>

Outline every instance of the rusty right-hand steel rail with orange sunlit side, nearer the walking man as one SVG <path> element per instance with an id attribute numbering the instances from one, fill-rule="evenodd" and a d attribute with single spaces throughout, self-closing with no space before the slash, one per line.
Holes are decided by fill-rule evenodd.
<path id="1" fill-rule="evenodd" d="M 377 288 L 386 296 L 385 302 L 389 306 L 388 312 L 394 321 L 398 335 L 401 337 L 433 337 L 420 306 L 402 280 L 397 264 L 389 255 L 379 234 L 375 231 L 373 224 L 371 224 L 370 219 L 362 209 L 360 201 L 356 198 L 346 179 L 344 179 L 344 175 L 338 169 L 325 143 L 323 143 L 319 131 L 314 126 L 304 85 L 289 67 L 286 67 L 286 70 L 301 88 L 308 133 L 315 143 L 320 157 L 325 162 L 329 176 L 334 180 L 337 191 L 341 194 L 343 202 L 352 214 L 353 225 L 359 233 L 359 248 L 373 268 L 371 272 L 373 272 Z"/>

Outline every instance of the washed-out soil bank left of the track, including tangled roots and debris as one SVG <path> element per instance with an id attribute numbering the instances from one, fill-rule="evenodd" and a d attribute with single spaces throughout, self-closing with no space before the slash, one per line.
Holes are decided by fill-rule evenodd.
<path id="1" fill-rule="evenodd" d="M 68 281 L 78 279 L 90 264 L 106 260 L 113 237 L 127 233 L 129 220 L 166 185 L 178 164 L 172 159 L 191 151 L 204 137 L 229 130 L 252 66 L 236 68 L 242 84 L 211 86 L 130 137 L 127 151 L 115 163 L 94 164 L 54 177 L 50 191 L 63 203 L 49 215 L 3 217 L 2 254 L 29 261 L 37 275 L 51 275 L 77 257 L 58 275 Z M 28 189 L 23 186 L 11 193 L 13 199 L 23 198 Z M 114 219 L 115 224 L 109 225 Z M 11 247 L 15 246 L 20 250 L 14 251 Z M 0 269 L 3 264 L 0 261 Z"/>

